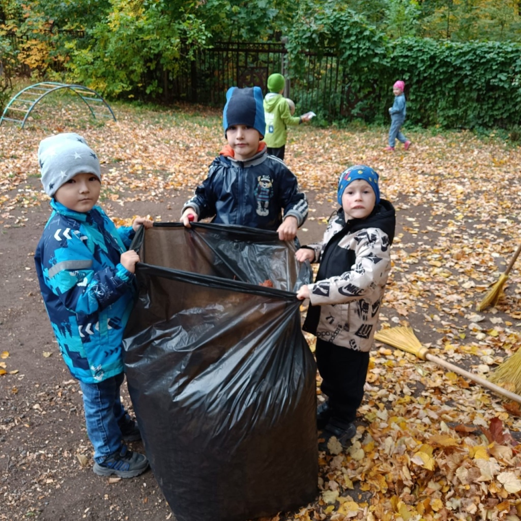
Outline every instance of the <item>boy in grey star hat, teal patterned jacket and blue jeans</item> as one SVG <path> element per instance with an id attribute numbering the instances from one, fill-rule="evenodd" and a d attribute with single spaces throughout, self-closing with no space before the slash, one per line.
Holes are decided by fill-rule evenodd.
<path id="1" fill-rule="evenodd" d="M 120 401 L 123 330 L 132 308 L 135 264 L 127 251 L 144 218 L 117 229 L 99 206 L 101 172 L 96 154 L 75 133 L 40 142 L 42 184 L 53 212 L 34 261 L 43 301 L 60 352 L 80 381 L 96 474 L 130 478 L 144 472 L 144 454 L 125 441 L 141 439 Z"/>

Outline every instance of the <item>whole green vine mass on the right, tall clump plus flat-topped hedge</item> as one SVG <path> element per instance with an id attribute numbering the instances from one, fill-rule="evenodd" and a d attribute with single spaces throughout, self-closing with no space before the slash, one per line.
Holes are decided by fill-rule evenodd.
<path id="1" fill-rule="evenodd" d="M 293 95 L 301 105 L 332 117 L 388 122 L 391 86 L 401 79 L 410 123 L 474 129 L 519 122 L 520 44 L 388 40 L 338 2 L 299 5 L 287 48 Z M 319 65 L 310 67 L 309 53 Z M 328 86 L 332 77 L 334 89 Z"/>

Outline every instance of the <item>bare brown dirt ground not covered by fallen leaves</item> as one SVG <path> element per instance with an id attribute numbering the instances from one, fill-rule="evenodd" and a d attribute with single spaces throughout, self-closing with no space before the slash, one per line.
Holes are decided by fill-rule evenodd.
<path id="1" fill-rule="evenodd" d="M 109 214 L 120 218 L 150 214 L 162 221 L 175 221 L 187 195 L 188 192 L 183 192 L 159 203 L 136 201 L 123 206 L 116 203 L 104 203 L 103 206 Z M 311 192 L 308 196 L 313 212 L 299 233 L 302 243 L 321 238 L 325 225 L 319 217 L 329 215 L 332 209 L 331 203 L 324 203 L 321 194 Z M 11 215 L 10 227 L 3 228 L 0 236 L 3 288 L 0 351 L 9 352 L 4 360 L 6 370 L 17 372 L 0 377 L 0 519 L 173 519 L 150 470 L 130 480 L 107 480 L 93 474 L 92 448 L 84 427 L 79 386 L 60 359 L 34 271 L 33 252 L 49 209 L 33 207 L 17 210 Z M 421 239 L 423 244 L 433 244 L 438 240 L 439 233 L 427 231 L 433 215 L 427 206 L 410 206 L 399 214 L 396 236 L 401 238 L 401 250 L 414 253 L 417 230 L 425 231 Z M 400 266 L 396 277 L 403 277 L 405 281 L 405 275 L 400 273 L 404 263 L 399 261 L 396 260 Z M 504 263 L 504 259 L 498 258 L 498 263 L 502 261 Z M 442 288 L 436 289 L 436 281 L 429 288 L 431 293 L 423 295 L 424 316 L 408 317 L 415 328 L 425 329 L 425 317 L 442 313 L 436 304 L 436 291 L 442 291 Z M 387 320 L 400 317 L 402 304 L 394 302 L 382 314 Z M 495 316 L 509 318 L 504 313 Z M 458 322 L 463 321 L 463 317 L 453 314 L 448 320 Z M 441 337 L 435 328 L 430 334 L 429 341 L 432 342 Z M 467 367 L 472 363 L 479 363 L 479 359 L 470 356 Z M 408 382 L 408 385 L 415 395 L 424 390 L 418 381 Z M 123 400 L 131 408 L 126 389 L 123 390 Z M 519 421 L 513 419 L 510 427 L 519 441 L 519 432 L 516 432 Z M 141 442 L 133 443 L 132 448 L 144 450 Z M 370 493 L 357 490 L 359 499 L 370 496 Z M 292 519 L 293 515 L 284 519 L 289 518 Z"/>

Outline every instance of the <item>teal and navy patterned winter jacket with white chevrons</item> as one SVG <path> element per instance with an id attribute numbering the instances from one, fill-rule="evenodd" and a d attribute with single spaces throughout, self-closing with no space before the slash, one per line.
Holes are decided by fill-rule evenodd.
<path id="1" fill-rule="evenodd" d="M 73 377 L 96 383 L 123 371 L 123 331 L 135 277 L 120 264 L 134 235 L 94 206 L 74 212 L 51 201 L 53 213 L 34 261 L 47 314 Z"/>

